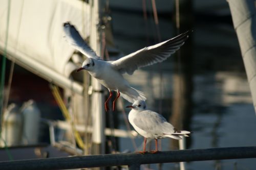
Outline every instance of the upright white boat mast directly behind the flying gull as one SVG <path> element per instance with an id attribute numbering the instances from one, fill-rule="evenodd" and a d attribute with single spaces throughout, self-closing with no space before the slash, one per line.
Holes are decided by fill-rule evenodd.
<path id="1" fill-rule="evenodd" d="M 90 45 L 92 49 L 100 56 L 101 45 L 100 45 L 100 1 L 91 0 L 91 35 L 90 35 Z M 103 154 L 105 151 L 105 114 L 104 114 L 104 95 L 103 87 L 95 78 L 92 78 L 92 101 L 91 101 L 91 114 L 92 114 L 92 124 L 93 124 L 93 154 Z"/>

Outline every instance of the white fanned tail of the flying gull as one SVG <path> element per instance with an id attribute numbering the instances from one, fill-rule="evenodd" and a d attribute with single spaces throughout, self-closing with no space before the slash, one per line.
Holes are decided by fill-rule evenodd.
<path id="1" fill-rule="evenodd" d="M 130 103 L 134 103 L 136 100 L 146 100 L 146 96 L 143 92 L 136 90 L 135 88 L 129 88 L 126 91 L 120 92 L 121 96 L 129 101 Z"/>

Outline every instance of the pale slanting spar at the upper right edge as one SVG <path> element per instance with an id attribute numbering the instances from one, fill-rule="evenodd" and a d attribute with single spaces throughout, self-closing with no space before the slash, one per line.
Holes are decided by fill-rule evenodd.
<path id="1" fill-rule="evenodd" d="M 255 1 L 228 0 L 234 29 L 250 85 L 253 106 L 256 110 L 256 9 Z"/>

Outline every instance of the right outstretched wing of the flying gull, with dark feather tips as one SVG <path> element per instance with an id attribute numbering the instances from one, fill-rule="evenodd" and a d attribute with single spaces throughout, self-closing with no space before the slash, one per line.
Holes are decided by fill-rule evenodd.
<path id="1" fill-rule="evenodd" d="M 112 64 L 122 74 L 127 72 L 127 74 L 132 75 L 133 72 L 140 67 L 152 65 L 166 60 L 170 55 L 179 50 L 179 48 L 187 40 L 190 32 L 191 31 L 187 31 L 172 39 L 142 48 L 137 52 L 112 62 Z"/>

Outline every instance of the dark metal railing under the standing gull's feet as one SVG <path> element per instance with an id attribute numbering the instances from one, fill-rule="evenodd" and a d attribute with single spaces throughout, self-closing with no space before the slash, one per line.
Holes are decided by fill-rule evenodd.
<path id="1" fill-rule="evenodd" d="M 0 162 L 0 169 L 72 169 L 129 165 L 139 169 L 141 164 L 205 161 L 220 159 L 256 158 L 256 147 L 213 148 L 164 151 L 156 154 L 125 153 L 90 156 L 71 156 Z"/>

